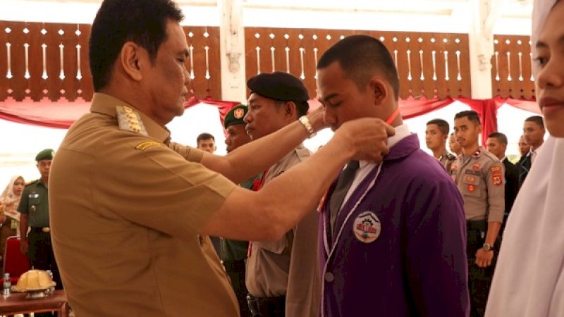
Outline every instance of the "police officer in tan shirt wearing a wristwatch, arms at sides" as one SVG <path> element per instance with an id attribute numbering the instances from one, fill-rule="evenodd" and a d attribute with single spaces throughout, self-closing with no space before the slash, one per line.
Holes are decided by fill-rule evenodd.
<path id="1" fill-rule="evenodd" d="M 479 147 L 482 132 L 478 113 L 462 111 L 455 115 L 455 136 L 462 147 L 450 168 L 464 199 L 467 226 L 470 316 L 484 316 L 503 221 L 505 187 L 503 163 Z"/>

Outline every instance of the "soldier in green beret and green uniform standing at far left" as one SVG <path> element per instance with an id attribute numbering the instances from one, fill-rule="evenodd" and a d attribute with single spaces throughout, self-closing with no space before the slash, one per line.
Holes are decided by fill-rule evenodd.
<path id="1" fill-rule="evenodd" d="M 37 170 L 41 178 L 28 182 L 23 189 L 22 199 L 18 206 L 20 216 L 20 250 L 29 256 L 30 266 L 38 270 L 51 270 L 56 288 L 61 290 L 63 284 L 59 276 L 59 268 L 51 247 L 51 228 L 49 226 L 49 197 L 47 188 L 49 170 L 55 151 L 44 149 L 35 156 Z M 29 230 L 29 234 L 26 233 Z"/>

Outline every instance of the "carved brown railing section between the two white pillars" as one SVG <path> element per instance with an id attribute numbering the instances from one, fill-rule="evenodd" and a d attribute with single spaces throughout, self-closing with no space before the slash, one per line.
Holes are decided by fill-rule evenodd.
<path id="1" fill-rule="evenodd" d="M 401 98 L 470 97 L 468 36 L 458 34 L 247 27 L 247 78 L 286 71 L 302 78 L 315 97 L 315 67 L 321 54 L 339 39 L 358 33 L 379 38 L 391 52 Z"/>

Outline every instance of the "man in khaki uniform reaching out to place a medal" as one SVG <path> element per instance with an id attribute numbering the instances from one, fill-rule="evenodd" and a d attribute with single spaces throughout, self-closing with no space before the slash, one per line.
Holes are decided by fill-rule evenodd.
<path id="1" fill-rule="evenodd" d="M 278 240 L 351 157 L 381 161 L 394 132 L 355 120 L 260 192 L 238 187 L 322 128 L 321 113 L 225 157 L 171 142 L 164 127 L 183 113 L 190 86 L 183 15 L 171 1 L 138 2 L 102 3 L 90 33 L 90 113 L 51 167 L 51 239 L 68 301 L 80 317 L 238 316 L 219 258 L 199 237 Z"/>

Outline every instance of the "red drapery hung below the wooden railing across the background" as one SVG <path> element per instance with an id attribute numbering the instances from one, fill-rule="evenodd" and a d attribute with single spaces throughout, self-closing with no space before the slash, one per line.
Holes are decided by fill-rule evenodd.
<path id="1" fill-rule="evenodd" d="M 503 99 L 496 97 L 492 99 L 468 99 L 468 98 L 446 98 L 446 99 L 406 99 L 400 100 L 400 109 L 403 118 L 409 119 L 421 116 L 425 113 L 438 110 L 460 101 L 467 104 L 482 118 L 482 141 L 485 142 L 491 132 L 497 131 L 497 110 L 502 104 L 509 104 L 534 113 L 541 113 L 537 102 L 534 100 Z M 185 108 L 197 104 L 208 104 L 216 106 L 219 118 L 223 124 L 225 116 L 231 108 L 240 104 L 238 101 L 220 101 L 209 97 L 206 99 L 192 98 L 184 104 Z M 321 106 L 317 99 L 309 100 L 309 106 L 313 110 Z M 45 99 L 40 102 L 31 100 L 16 102 L 13 99 L 0 102 L 0 119 L 10 120 L 16 123 L 39 125 L 49 128 L 68 129 L 82 114 L 90 111 L 90 102 L 61 100 L 51 102 Z"/>

